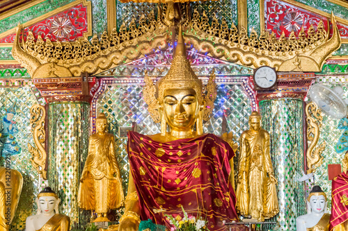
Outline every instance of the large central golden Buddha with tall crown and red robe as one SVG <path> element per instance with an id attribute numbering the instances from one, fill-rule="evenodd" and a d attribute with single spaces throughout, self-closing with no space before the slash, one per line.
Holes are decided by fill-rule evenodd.
<path id="1" fill-rule="evenodd" d="M 210 76 L 207 95 L 186 57 L 182 28 L 168 74 L 153 85 L 145 76 L 144 99 L 161 133 L 128 133 L 129 187 L 119 230 L 138 230 L 141 220 L 171 224 L 164 214 L 200 214 L 209 230 L 237 221 L 235 191 L 230 181 L 230 145 L 203 134 L 203 119 L 214 108 L 216 85 Z M 168 131 L 167 131 L 168 125 Z"/>

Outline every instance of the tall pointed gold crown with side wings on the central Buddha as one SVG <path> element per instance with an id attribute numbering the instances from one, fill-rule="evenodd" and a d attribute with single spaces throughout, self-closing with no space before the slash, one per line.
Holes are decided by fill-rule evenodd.
<path id="1" fill-rule="evenodd" d="M 182 26 L 180 25 L 177 35 L 177 46 L 175 46 L 173 62 L 168 74 L 161 78 L 156 86 L 150 77 L 145 74 L 143 95 L 145 102 L 148 103 L 148 110 L 152 119 L 155 123 L 159 123 L 160 121 L 157 104 L 163 101 L 166 89 L 194 89 L 198 97 L 198 103 L 200 105 L 205 104 L 203 119 L 209 119 L 209 114 L 214 109 L 214 101 L 216 99 L 216 83 L 214 80 L 215 74 L 213 71 L 207 83 L 207 94 L 204 94 L 202 80 L 193 72 L 190 62 L 187 59 Z"/>

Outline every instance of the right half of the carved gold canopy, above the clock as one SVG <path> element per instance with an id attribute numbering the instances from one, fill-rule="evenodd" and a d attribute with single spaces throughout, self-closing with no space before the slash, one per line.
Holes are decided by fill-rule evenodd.
<path id="1" fill-rule="evenodd" d="M 219 30 L 212 34 L 212 26 L 208 22 L 205 12 L 200 17 L 195 10 L 191 20 L 193 30 L 186 30 L 186 42 L 214 58 L 253 68 L 269 65 L 275 67 L 277 71 L 321 71 L 324 61 L 341 44 L 333 15 L 331 15 L 333 36 L 330 39 L 322 23 L 319 23 L 316 32 L 314 28 L 310 28 L 307 36 L 302 30 L 298 40 L 294 35 L 288 39 L 282 35 L 277 40 L 274 34 L 269 35 L 269 33 L 262 33 L 257 37 L 253 32 L 248 37 L 245 28 L 242 27 L 238 33 L 235 25 L 229 29 L 227 38 L 218 32 L 223 28 L 222 23 L 214 26 Z"/>

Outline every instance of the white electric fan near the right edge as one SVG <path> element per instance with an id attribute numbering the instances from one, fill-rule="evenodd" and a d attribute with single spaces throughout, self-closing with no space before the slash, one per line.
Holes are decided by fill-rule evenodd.
<path id="1" fill-rule="evenodd" d="M 347 117 L 348 100 L 343 100 L 341 95 L 342 87 L 334 87 L 330 89 L 324 85 L 313 85 L 310 87 L 310 99 L 318 105 L 318 107 L 333 119 L 342 119 Z"/>

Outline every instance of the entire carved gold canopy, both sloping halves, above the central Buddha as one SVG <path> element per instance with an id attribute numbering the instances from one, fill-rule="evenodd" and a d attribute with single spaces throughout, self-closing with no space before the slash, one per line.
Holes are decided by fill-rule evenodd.
<path id="1" fill-rule="evenodd" d="M 18 26 L 13 57 L 22 63 L 32 78 L 98 74 L 167 49 L 172 41 L 173 25 L 175 28 L 177 23 L 184 27 L 185 43 L 198 52 L 252 68 L 267 65 L 277 71 L 321 71 L 325 60 L 341 45 L 334 15 L 331 15 L 331 37 L 320 22 L 316 31 L 312 25 L 307 33 L 302 28 L 299 35 L 292 32 L 287 38 L 283 33 L 277 39 L 267 32 L 259 36 L 251 31 L 248 35 L 245 28 L 238 31 L 234 24 L 228 28 L 225 19 L 219 21 L 216 16 L 209 19 L 204 11 L 200 15 L 194 10 L 193 15 L 189 15 L 188 7 L 182 14 L 186 17 L 173 22 L 175 19 L 167 13 L 173 12 L 171 7 L 173 4 L 168 4 L 166 12 L 159 8 L 157 19 L 153 13 L 147 18 L 142 15 L 139 22 L 133 19 L 128 26 L 122 24 L 119 31 L 114 28 L 110 35 L 104 31 L 100 38 L 95 35 L 90 41 L 61 43 L 40 36 L 35 41 L 29 33 L 26 42 L 21 44 L 22 27 Z"/>

